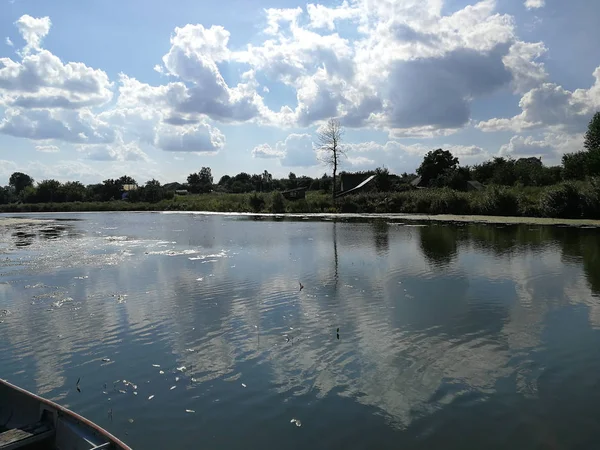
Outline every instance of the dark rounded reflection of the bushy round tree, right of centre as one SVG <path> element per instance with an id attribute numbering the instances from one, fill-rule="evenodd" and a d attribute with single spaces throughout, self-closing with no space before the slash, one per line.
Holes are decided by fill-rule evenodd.
<path id="1" fill-rule="evenodd" d="M 454 226 L 430 225 L 419 228 L 420 247 L 433 266 L 447 266 L 457 254 L 458 230 Z"/>

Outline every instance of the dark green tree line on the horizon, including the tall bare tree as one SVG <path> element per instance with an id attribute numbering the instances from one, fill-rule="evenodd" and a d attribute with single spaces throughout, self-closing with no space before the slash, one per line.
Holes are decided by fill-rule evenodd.
<path id="1" fill-rule="evenodd" d="M 28 174 L 13 173 L 8 185 L 0 187 L 0 204 L 7 203 L 53 203 L 53 202 L 105 202 L 129 200 L 133 202 L 159 202 L 172 199 L 178 191 L 201 193 L 250 193 L 285 191 L 305 188 L 310 191 L 334 193 L 340 189 L 337 168 L 340 157 L 344 156 L 341 146 L 342 130 L 339 123 L 330 121 L 326 127 L 329 134 L 320 134 L 321 148 L 326 151 L 324 161 L 333 169 L 333 175 L 325 173 L 321 177 L 297 176 L 290 172 L 287 178 L 274 178 L 268 171 L 260 174 L 240 172 L 237 175 L 223 175 L 214 182 L 211 169 L 202 167 L 199 172 L 187 177 L 187 183 L 162 185 L 157 180 L 149 180 L 138 186 L 136 180 L 123 175 L 117 179 L 107 179 L 102 183 L 84 185 L 79 181 L 61 183 L 57 180 L 35 182 Z M 344 176 L 347 172 L 341 172 Z M 472 166 L 461 166 L 458 158 L 450 151 L 437 149 L 430 151 L 416 174 L 392 174 L 387 168 L 355 172 L 365 176 L 375 175 L 375 180 L 366 191 L 403 192 L 416 187 L 451 188 L 466 191 L 469 182 L 499 186 L 551 186 L 563 181 L 583 180 L 600 176 L 600 112 L 594 114 L 585 134 L 584 148 L 575 153 L 565 154 L 562 165 L 545 166 L 538 158 L 494 157 L 489 161 Z M 418 179 L 417 179 L 418 178 Z M 136 185 L 137 189 L 125 191 L 125 185 Z"/>

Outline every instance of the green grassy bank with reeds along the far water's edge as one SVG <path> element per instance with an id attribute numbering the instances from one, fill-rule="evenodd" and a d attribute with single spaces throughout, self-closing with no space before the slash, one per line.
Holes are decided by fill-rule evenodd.
<path id="1" fill-rule="evenodd" d="M 333 203 L 322 192 L 284 200 L 279 193 L 201 194 L 158 203 L 75 202 L 0 205 L 1 212 L 51 211 L 215 211 L 272 213 L 409 213 L 600 219 L 600 181 L 562 183 L 544 188 L 490 186 L 482 191 L 421 189 L 363 193 Z"/>

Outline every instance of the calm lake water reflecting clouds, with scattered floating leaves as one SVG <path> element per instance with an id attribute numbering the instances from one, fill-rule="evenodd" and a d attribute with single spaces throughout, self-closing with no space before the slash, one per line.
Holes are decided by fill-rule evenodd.
<path id="1" fill-rule="evenodd" d="M 598 229 L 27 217 L 58 220 L 0 227 L 0 377 L 133 448 L 600 442 Z"/>

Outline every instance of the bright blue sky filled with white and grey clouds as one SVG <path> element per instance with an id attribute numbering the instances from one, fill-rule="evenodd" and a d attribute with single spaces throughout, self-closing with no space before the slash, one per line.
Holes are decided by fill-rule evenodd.
<path id="1" fill-rule="evenodd" d="M 316 0 L 318 1 L 318 0 Z M 600 110 L 590 0 L 0 0 L 0 184 L 413 172 L 581 149 Z"/>

